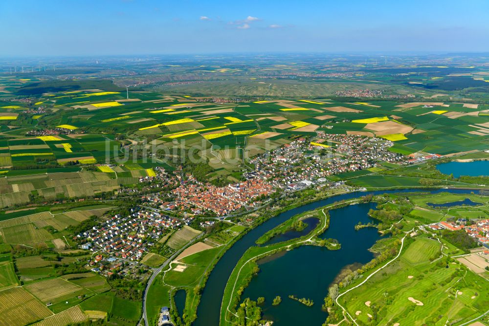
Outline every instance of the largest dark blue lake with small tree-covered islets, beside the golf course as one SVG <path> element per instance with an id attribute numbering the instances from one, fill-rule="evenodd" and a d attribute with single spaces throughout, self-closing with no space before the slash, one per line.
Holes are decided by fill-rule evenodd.
<path id="1" fill-rule="evenodd" d="M 366 203 L 330 211 L 330 227 L 320 237 L 337 239 L 341 243 L 339 250 L 301 246 L 285 254 L 279 253 L 275 259 L 270 256 L 259 260 L 260 273 L 246 287 L 242 300 L 265 297 L 263 318 L 272 320 L 273 325 L 303 325 L 305 318 L 308 325 L 324 323 L 328 314 L 321 310 L 321 305 L 336 275 L 345 266 L 363 265 L 374 258 L 368 249 L 380 234 L 375 228 L 355 231 L 355 225 L 359 221 L 363 224 L 376 222 L 367 214 L 375 207 L 376 203 Z M 274 306 L 272 300 L 277 295 L 282 297 L 282 303 Z M 308 307 L 289 299 L 289 295 L 312 299 L 314 305 Z"/>

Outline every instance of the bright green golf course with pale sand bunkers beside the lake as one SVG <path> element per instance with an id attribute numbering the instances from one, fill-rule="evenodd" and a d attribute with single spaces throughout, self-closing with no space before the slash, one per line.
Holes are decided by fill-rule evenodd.
<path id="1" fill-rule="evenodd" d="M 372 319 L 367 314 L 376 316 L 372 323 L 377 325 L 445 325 L 447 320 L 458 325 L 482 314 L 489 304 L 488 283 L 456 261 L 448 262 L 447 268 L 445 258 L 443 264 L 431 264 L 429 257 L 438 249 L 434 240 L 417 238 L 401 259 L 341 297 L 340 302 L 359 322 L 369 323 Z"/>

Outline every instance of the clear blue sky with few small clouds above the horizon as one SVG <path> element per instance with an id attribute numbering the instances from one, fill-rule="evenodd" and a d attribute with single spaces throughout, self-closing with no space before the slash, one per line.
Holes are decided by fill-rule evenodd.
<path id="1" fill-rule="evenodd" d="M 488 0 L 1 0 L 0 56 L 486 52 Z"/>

